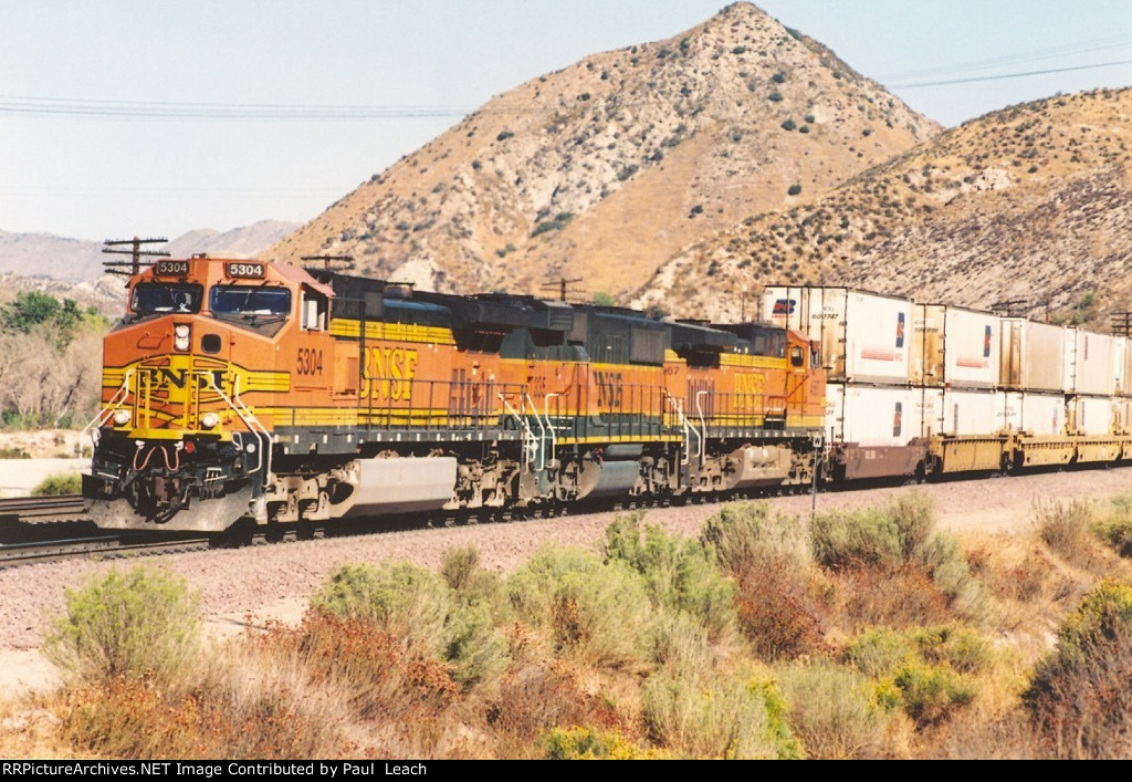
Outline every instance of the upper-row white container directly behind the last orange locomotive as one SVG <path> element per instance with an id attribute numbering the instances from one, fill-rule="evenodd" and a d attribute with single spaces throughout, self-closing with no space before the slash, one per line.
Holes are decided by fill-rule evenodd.
<path id="1" fill-rule="evenodd" d="M 821 343 L 833 381 L 906 384 L 912 303 L 851 288 L 767 287 L 763 314 Z"/>

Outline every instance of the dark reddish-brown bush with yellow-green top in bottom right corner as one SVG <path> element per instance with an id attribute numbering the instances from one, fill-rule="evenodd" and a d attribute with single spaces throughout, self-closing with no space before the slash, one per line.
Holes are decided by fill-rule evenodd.
<path id="1" fill-rule="evenodd" d="M 1132 584 L 1105 580 L 1066 617 L 1022 696 L 1058 757 L 1127 757 Z"/>

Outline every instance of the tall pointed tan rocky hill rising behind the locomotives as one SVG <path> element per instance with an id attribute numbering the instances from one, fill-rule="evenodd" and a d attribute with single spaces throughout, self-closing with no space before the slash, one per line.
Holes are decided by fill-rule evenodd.
<path id="1" fill-rule="evenodd" d="M 749 3 L 498 95 L 268 256 L 451 291 L 626 299 L 691 244 L 815 202 L 940 131 Z"/>

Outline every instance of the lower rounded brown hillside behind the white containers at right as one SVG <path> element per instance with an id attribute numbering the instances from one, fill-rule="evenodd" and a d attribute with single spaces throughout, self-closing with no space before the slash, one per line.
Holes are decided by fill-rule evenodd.
<path id="1" fill-rule="evenodd" d="M 815 282 L 1107 328 L 1132 308 L 1130 162 L 1132 90 L 1004 109 L 692 246 L 635 304 L 727 320 L 744 291 L 749 314 L 765 283 Z"/>

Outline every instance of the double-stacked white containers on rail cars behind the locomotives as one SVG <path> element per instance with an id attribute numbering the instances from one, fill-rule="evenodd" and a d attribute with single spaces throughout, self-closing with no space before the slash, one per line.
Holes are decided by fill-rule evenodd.
<path id="1" fill-rule="evenodd" d="M 1124 337 L 839 287 L 763 312 L 821 345 L 834 477 L 1132 457 Z"/>

